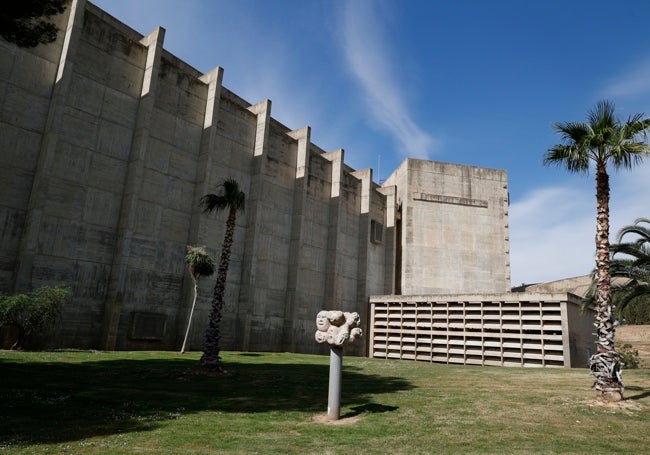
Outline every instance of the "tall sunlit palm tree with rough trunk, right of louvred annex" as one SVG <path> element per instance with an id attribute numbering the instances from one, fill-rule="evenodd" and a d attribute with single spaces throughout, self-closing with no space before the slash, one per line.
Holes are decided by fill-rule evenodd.
<path id="1" fill-rule="evenodd" d="M 646 142 L 650 119 L 636 114 L 621 122 L 614 116 L 614 104 L 599 101 L 585 122 L 554 123 L 563 143 L 548 149 L 544 164 L 557 164 L 572 173 L 596 175 L 596 352 L 589 359 L 599 397 L 607 401 L 623 399 L 621 366 L 614 347 L 612 287 L 609 245 L 608 165 L 632 168 L 650 154 Z"/>

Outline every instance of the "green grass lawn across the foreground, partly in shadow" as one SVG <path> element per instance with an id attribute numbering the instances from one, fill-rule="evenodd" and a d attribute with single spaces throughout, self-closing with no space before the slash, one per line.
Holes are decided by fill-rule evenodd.
<path id="1" fill-rule="evenodd" d="M 626 370 L 621 406 L 594 402 L 586 370 L 345 357 L 342 419 L 329 357 L 0 352 L 4 454 L 650 453 L 650 370 Z"/>

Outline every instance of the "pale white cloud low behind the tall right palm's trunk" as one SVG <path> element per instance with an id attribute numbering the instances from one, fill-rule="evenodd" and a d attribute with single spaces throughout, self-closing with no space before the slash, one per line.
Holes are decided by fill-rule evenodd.
<path id="1" fill-rule="evenodd" d="M 611 171 L 610 239 L 638 217 L 650 216 L 650 160 Z M 594 268 L 596 197 L 593 176 L 536 189 L 510 206 L 512 285 L 585 275 Z M 567 180 L 569 182 L 569 180 Z"/>

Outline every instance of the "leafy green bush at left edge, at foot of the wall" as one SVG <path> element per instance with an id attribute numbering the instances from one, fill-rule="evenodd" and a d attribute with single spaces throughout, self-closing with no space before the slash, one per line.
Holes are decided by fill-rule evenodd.
<path id="1" fill-rule="evenodd" d="M 0 327 L 17 329 L 11 349 L 24 348 L 31 336 L 52 327 L 61 315 L 63 302 L 71 297 L 72 291 L 63 286 L 42 286 L 24 294 L 0 294 Z"/>

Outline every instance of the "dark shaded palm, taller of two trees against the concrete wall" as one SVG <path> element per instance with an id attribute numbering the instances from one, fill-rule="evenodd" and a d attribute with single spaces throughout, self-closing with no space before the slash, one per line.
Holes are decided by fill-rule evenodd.
<path id="1" fill-rule="evenodd" d="M 223 310 L 224 305 L 226 277 L 228 275 L 228 265 L 230 263 L 230 249 L 232 247 L 233 235 L 235 233 L 235 221 L 237 219 L 237 212 L 239 210 L 244 210 L 245 201 L 246 196 L 239 189 L 239 184 L 234 179 L 225 180 L 217 187 L 217 194 L 206 194 L 200 201 L 201 206 L 203 207 L 203 213 L 228 210 L 226 233 L 221 247 L 221 258 L 219 260 L 219 269 L 217 271 L 217 281 L 214 285 L 208 328 L 205 331 L 205 346 L 203 355 L 201 356 L 201 367 L 210 371 L 223 371 L 221 356 L 219 355 L 221 311 Z"/>

